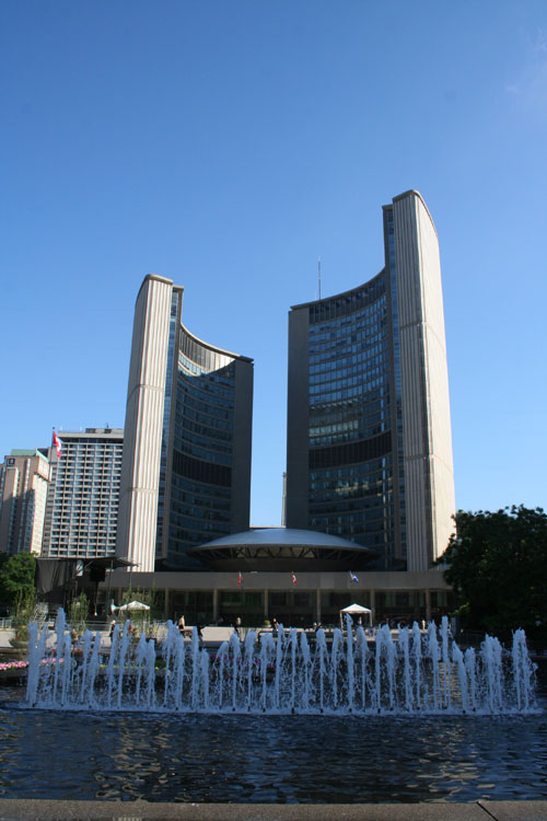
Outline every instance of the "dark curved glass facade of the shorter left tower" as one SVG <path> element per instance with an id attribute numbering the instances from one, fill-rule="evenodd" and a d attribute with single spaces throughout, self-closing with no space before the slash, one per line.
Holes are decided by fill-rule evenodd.
<path id="1" fill-rule="evenodd" d="M 172 323 L 176 315 L 174 304 Z M 189 550 L 231 532 L 235 362 L 183 326 L 176 355 L 170 336 L 167 361 L 171 401 L 162 444 L 158 546 L 167 527 L 170 564 L 193 568 L 199 564 L 187 555 Z"/>

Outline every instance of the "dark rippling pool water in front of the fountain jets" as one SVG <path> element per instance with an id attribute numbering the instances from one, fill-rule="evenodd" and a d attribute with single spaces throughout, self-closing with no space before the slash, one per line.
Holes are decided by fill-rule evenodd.
<path id="1" fill-rule="evenodd" d="M 0 690 L 0 796 L 150 801 L 544 799 L 540 712 L 323 716 L 23 710 Z"/>

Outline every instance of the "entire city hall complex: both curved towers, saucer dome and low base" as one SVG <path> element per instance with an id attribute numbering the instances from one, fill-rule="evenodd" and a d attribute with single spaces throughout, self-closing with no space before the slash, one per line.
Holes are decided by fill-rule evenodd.
<path id="1" fill-rule="evenodd" d="M 190 622 L 382 618 L 450 606 L 453 531 L 437 231 L 420 194 L 383 208 L 383 269 L 289 313 L 284 528 L 249 528 L 253 360 L 183 324 L 151 275 L 136 312 L 117 556 L 107 588 L 153 588 Z"/>

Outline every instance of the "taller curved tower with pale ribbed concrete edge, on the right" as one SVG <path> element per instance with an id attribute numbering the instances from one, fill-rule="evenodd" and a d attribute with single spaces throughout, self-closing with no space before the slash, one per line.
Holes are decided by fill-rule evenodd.
<path id="1" fill-rule="evenodd" d="M 286 520 L 426 570 L 455 511 L 439 243 L 418 192 L 383 213 L 383 270 L 289 313 Z"/>

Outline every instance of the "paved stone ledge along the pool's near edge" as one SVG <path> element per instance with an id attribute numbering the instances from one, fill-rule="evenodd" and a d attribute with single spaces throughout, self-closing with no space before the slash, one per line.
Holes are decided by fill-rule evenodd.
<path id="1" fill-rule="evenodd" d="M 161 803 L 1 799 L 0 821 L 546 821 L 547 801 Z"/>

